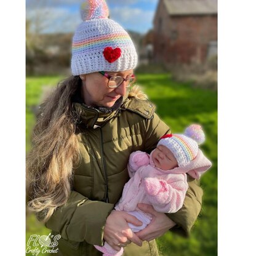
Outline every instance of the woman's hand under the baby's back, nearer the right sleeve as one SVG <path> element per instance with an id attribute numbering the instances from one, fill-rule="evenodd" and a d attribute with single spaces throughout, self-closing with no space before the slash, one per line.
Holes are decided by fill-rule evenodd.
<path id="1" fill-rule="evenodd" d="M 153 215 L 153 218 L 148 226 L 144 230 L 138 231 L 136 234 L 142 241 L 151 241 L 162 234 L 166 233 L 167 230 L 176 225 L 175 222 L 170 220 L 166 214 L 162 212 L 156 212 L 153 206 L 150 204 L 138 204 L 138 208 L 143 212 L 148 212 Z"/>

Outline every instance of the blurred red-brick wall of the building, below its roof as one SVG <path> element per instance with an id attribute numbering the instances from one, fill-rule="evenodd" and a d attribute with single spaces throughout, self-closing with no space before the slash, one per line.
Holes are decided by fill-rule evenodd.
<path id="1" fill-rule="evenodd" d="M 159 4 L 154 18 L 156 62 L 203 63 L 210 41 L 217 41 L 217 15 L 170 17 Z"/>

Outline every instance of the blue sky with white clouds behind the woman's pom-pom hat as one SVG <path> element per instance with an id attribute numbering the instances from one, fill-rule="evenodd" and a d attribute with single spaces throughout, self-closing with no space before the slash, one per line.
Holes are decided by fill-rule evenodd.
<path id="1" fill-rule="evenodd" d="M 74 32 L 82 0 L 26 0 L 26 18 L 39 20 L 44 32 Z M 110 17 L 126 30 L 146 33 L 153 26 L 158 0 L 106 0 Z"/>

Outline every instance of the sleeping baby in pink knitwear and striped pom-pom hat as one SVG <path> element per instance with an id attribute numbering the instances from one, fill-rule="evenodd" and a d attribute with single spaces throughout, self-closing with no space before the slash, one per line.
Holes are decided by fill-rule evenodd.
<path id="1" fill-rule="evenodd" d="M 204 132 L 198 124 L 189 126 L 184 134 L 167 134 L 161 137 L 151 154 L 135 151 L 130 154 L 129 182 L 124 186 L 122 197 L 115 210 L 126 211 L 143 225 L 129 226 L 133 232 L 143 230 L 151 215 L 138 209 L 137 204 L 151 204 L 158 212 L 177 212 L 185 199 L 188 183 L 186 174 L 199 178 L 212 166 L 198 145 L 204 142 Z M 120 256 L 124 249 L 114 250 L 107 242 L 95 246 L 103 256 Z"/>

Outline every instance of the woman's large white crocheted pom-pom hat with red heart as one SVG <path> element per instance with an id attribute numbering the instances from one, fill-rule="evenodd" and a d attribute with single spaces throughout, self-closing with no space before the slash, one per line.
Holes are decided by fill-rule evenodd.
<path id="1" fill-rule="evenodd" d="M 83 22 L 76 29 L 72 44 L 71 70 L 74 76 L 136 67 L 137 52 L 132 39 L 108 16 L 105 0 L 82 3 Z"/>

